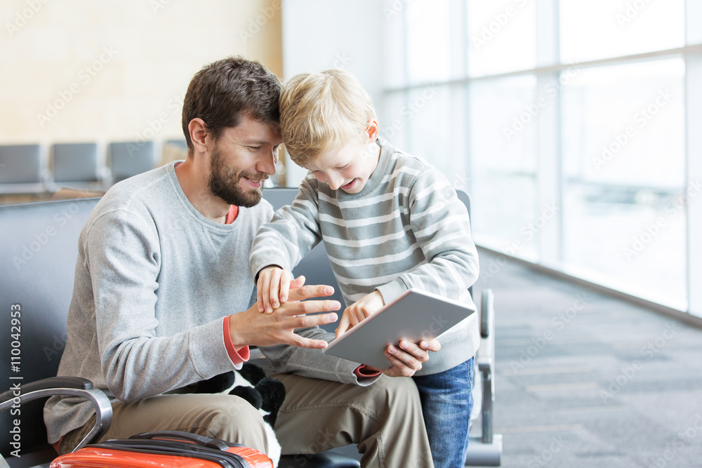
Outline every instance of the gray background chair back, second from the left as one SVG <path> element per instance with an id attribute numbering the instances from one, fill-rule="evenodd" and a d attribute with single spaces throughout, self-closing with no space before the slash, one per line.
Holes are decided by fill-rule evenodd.
<path id="1" fill-rule="evenodd" d="M 51 146 L 53 185 L 69 188 L 100 186 L 97 143 L 56 143 Z"/>

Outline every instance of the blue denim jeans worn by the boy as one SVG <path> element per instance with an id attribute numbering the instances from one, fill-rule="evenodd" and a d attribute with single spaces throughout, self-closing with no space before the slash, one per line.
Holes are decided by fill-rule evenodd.
<path id="1" fill-rule="evenodd" d="M 459 468 L 468 450 L 474 358 L 444 372 L 413 377 L 422 401 L 435 468 Z"/>

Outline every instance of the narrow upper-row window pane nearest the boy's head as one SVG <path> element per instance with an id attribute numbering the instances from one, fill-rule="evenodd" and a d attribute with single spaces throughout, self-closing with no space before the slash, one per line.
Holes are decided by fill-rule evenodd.
<path id="1" fill-rule="evenodd" d="M 451 77 L 449 6 L 449 0 L 407 4 L 407 72 L 412 83 Z"/>

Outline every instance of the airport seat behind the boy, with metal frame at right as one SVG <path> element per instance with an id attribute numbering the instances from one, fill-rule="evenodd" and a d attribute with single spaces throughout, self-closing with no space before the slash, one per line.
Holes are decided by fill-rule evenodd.
<path id="1" fill-rule="evenodd" d="M 265 189 L 263 196 L 269 201 L 274 210 L 289 205 L 298 194 L 297 188 L 272 188 Z M 463 201 L 470 213 L 470 196 L 458 190 L 458 198 Z M 310 253 L 300 260 L 293 269 L 295 276 L 304 275 L 307 284 L 328 284 L 334 287 L 331 297 L 343 304 L 343 297 L 336 283 L 331 264 L 326 257 L 324 244 L 319 243 Z M 470 288 L 472 293 L 472 288 Z M 473 296 L 475 299 L 475 295 Z M 480 348 L 475 356 L 475 380 L 473 385 L 473 399 L 475 404 L 472 411 L 472 422 L 480 422 L 480 434 L 471 436 L 468 443 L 468 455 L 465 466 L 498 467 L 502 457 L 502 434 L 494 434 L 493 407 L 495 401 L 495 320 L 494 320 L 494 295 L 492 290 L 486 289 L 481 293 L 481 300 L 475 300 L 480 312 Z M 336 323 L 322 326 L 333 333 Z M 263 355 L 255 350 L 252 356 L 263 360 Z M 291 465 L 297 466 L 297 465 Z M 301 465 L 300 465 L 301 466 Z"/>

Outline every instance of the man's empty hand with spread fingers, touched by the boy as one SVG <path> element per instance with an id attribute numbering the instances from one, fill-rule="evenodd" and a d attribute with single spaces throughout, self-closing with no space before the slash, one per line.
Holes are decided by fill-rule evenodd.
<path id="1" fill-rule="evenodd" d="M 298 280 L 296 280 L 298 281 Z M 304 281 L 302 279 L 301 281 Z M 301 301 L 310 297 L 324 297 L 334 293 L 331 286 L 300 286 L 289 291 L 290 301 Z M 312 340 L 293 333 L 296 328 L 332 323 L 336 314 L 314 314 L 340 309 L 336 300 L 312 300 L 286 302 L 280 305 L 275 314 L 261 314 L 258 305 L 229 317 L 229 333 L 232 344 L 237 349 L 244 346 L 293 345 L 303 348 L 324 349 L 324 340 Z"/>

